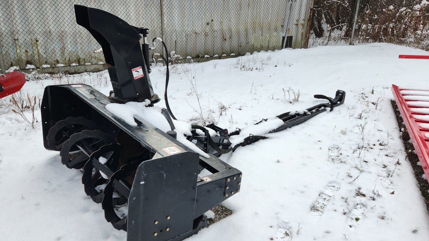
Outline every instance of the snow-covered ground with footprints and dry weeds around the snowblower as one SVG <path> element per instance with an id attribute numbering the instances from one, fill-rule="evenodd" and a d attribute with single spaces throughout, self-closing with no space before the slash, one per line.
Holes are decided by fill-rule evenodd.
<path id="1" fill-rule="evenodd" d="M 314 94 L 347 92 L 332 112 L 222 155 L 243 172 L 241 192 L 224 202 L 234 214 L 187 240 L 428 240 L 429 215 L 390 104 L 391 84 L 428 85 L 428 62 L 399 54 L 429 53 L 375 43 L 171 66 L 175 116 L 215 120 L 230 131 L 326 102 Z M 150 77 L 163 96 L 165 67 L 154 67 Z M 107 72 L 51 78 L 27 82 L 23 93 L 41 96 L 55 83 L 111 89 Z M 40 127 L 10 112 L 1 114 L 0 126 L 0 240 L 126 240 L 85 195 L 82 173 L 43 148 Z"/>

